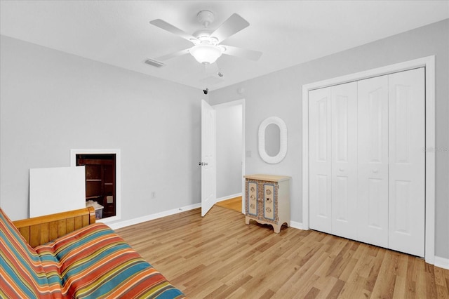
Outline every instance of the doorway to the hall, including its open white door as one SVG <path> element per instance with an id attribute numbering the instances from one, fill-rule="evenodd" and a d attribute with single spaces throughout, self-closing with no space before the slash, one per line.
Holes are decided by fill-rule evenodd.
<path id="1" fill-rule="evenodd" d="M 201 115 L 201 215 L 217 201 L 234 197 L 242 198 L 245 213 L 245 100 L 214 106 L 203 100 Z"/>

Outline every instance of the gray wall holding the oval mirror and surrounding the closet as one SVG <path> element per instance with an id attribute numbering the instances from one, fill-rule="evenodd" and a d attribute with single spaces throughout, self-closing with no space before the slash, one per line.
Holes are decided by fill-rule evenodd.
<path id="1" fill-rule="evenodd" d="M 436 55 L 436 255 L 449 258 L 449 20 L 390 36 L 263 77 L 210 92 L 210 104 L 246 99 L 246 173 L 292 176 L 291 218 L 302 222 L 302 85 Z M 281 117 L 288 128 L 287 156 L 266 164 L 257 154 L 257 128 Z"/>

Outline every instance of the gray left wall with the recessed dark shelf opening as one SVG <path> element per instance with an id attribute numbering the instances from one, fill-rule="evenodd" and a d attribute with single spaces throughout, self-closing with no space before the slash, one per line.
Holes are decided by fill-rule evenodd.
<path id="1" fill-rule="evenodd" d="M 121 220 L 201 201 L 202 91 L 6 36 L 0 45 L 0 204 L 12 219 L 28 217 L 29 168 L 70 166 L 70 149 L 121 150 Z"/>

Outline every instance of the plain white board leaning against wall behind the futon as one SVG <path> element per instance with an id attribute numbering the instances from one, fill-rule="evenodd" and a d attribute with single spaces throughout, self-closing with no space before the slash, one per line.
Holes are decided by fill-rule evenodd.
<path id="1" fill-rule="evenodd" d="M 84 166 L 30 168 L 29 217 L 86 208 Z"/>

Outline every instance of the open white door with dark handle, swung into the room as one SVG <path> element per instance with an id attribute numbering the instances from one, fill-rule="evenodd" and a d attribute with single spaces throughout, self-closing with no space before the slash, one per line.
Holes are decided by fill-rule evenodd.
<path id="1" fill-rule="evenodd" d="M 201 100 L 201 216 L 217 201 L 215 109 Z"/>

